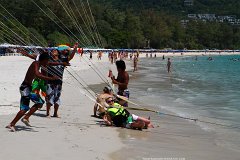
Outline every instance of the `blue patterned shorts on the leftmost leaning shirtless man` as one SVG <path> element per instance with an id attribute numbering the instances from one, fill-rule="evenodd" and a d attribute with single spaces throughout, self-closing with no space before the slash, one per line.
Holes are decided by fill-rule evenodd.
<path id="1" fill-rule="evenodd" d="M 20 86 L 20 110 L 28 111 L 30 109 L 29 104 L 30 100 L 35 104 L 44 104 L 44 100 L 40 95 L 31 92 L 32 87 L 30 85 L 22 83 Z"/>

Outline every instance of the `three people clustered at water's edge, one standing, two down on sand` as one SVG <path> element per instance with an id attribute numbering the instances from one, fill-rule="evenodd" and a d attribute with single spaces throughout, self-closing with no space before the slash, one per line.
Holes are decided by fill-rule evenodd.
<path id="1" fill-rule="evenodd" d="M 109 77 L 112 83 L 118 85 L 118 92 L 115 94 L 110 86 L 103 89 L 103 93 L 97 97 L 94 105 L 94 117 L 102 118 L 106 125 L 124 127 L 129 129 L 153 128 L 150 118 L 144 118 L 131 114 L 128 108 L 129 75 L 126 71 L 126 64 L 123 60 L 116 61 L 118 76 L 115 78 L 112 72 Z"/>

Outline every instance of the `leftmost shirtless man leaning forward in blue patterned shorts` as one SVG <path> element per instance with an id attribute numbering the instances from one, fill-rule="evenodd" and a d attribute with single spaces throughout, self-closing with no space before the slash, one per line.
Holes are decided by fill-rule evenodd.
<path id="1" fill-rule="evenodd" d="M 35 78 L 44 79 L 44 80 L 57 80 L 58 77 L 48 77 L 44 76 L 39 72 L 41 67 L 46 67 L 49 61 L 49 55 L 47 53 L 43 53 L 39 56 L 39 61 L 34 61 L 29 66 L 28 71 L 26 73 L 25 79 L 20 86 L 20 111 L 17 113 L 16 117 L 12 120 L 12 122 L 6 126 L 11 131 L 16 131 L 15 125 L 16 123 L 25 115 L 25 113 L 30 109 L 29 103 L 32 100 L 35 104 L 30 109 L 29 113 L 34 113 L 39 107 L 41 107 L 44 101 L 41 97 L 35 93 L 31 93 L 32 90 L 32 82 Z"/>

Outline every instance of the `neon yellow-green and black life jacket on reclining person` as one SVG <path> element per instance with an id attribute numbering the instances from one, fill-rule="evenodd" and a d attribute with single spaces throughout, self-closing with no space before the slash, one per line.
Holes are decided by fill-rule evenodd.
<path id="1" fill-rule="evenodd" d="M 114 106 L 108 108 L 107 112 L 111 116 L 113 124 L 116 127 L 122 127 L 123 124 L 127 122 L 130 115 L 130 113 L 118 103 L 114 103 Z"/>

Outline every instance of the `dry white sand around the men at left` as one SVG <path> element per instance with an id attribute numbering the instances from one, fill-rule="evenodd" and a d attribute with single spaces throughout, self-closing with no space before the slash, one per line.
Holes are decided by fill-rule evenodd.
<path id="1" fill-rule="evenodd" d="M 93 63 L 101 69 L 106 68 L 106 61 L 93 60 Z M 46 118 L 44 106 L 30 117 L 32 127 L 19 121 L 17 132 L 5 128 L 19 111 L 19 86 L 31 62 L 21 56 L 0 58 L 0 104 L 11 105 L 0 106 L 0 159 L 110 159 L 108 155 L 122 147 L 118 132 L 116 128 L 101 126 L 100 119 L 91 117 L 94 102 L 82 94 L 87 92 L 67 71 L 59 109 L 61 118 Z M 75 77 L 78 73 L 88 84 L 102 83 L 87 59 L 83 61 L 76 56 L 71 64 L 72 69 L 67 70 Z"/>

